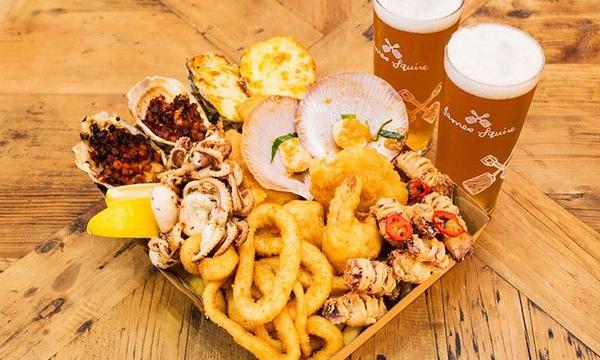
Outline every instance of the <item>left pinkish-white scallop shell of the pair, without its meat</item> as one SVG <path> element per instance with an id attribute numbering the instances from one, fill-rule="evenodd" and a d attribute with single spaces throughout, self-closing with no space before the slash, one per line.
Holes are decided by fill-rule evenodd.
<path id="1" fill-rule="evenodd" d="M 261 186 L 309 199 L 312 195 L 307 184 L 287 175 L 279 153 L 271 162 L 273 141 L 296 131 L 294 117 L 297 107 L 298 100 L 290 97 L 272 96 L 259 103 L 244 122 L 242 156 Z"/>

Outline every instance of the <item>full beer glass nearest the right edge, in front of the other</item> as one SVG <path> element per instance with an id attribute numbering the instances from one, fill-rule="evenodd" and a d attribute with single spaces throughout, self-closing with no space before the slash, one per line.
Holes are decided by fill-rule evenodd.
<path id="1" fill-rule="evenodd" d="M 490 213 L 544 67 L 527 33 L 466 26 L 446 46 L 436 166 Z"/>

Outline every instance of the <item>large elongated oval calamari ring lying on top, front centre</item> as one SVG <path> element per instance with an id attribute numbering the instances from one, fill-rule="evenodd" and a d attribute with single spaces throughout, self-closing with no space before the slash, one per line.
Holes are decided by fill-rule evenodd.
<path id="1" fill-rule="evenodd" d="M 245 319 L 256 324 L 265 324 L 275 319 L 283 310 L 298 276 L 301 255 L 298 227 L 289 212 L 280 205 L 273 204 L 258 206 L 248 216 L 248 224 L 248 239 L 239 248 L 240 259 L 233 283 L 233 302 Z M 265 225 L 274 225 L 279 229 L 282 247 L 273 289 L 263 293 L 263 297 L 255 301 L 251 294 L 256 253 L 254 234 Z"/>

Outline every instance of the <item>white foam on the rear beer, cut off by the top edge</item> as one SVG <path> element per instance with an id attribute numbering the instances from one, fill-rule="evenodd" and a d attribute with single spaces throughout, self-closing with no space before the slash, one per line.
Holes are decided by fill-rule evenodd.
<path id="1" fill-rule="evenodd" d="M 434 33 L 460 19 L 463 0 L 374 0 L 379 19 L 398 30 Z"/>

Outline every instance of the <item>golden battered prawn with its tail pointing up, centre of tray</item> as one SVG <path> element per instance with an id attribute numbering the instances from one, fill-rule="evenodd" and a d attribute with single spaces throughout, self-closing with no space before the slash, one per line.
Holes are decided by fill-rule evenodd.
<path id="1" fill-rule="evenodd" d="M 342 273 L 346 262 L 354 258 L 373 259 L 381 251 L 381 236 L 375 218 L 356 218 L 360 202 L 362 180 L 349 176 L 335 190 L 327 214 L 327 226 L 323 234 L 323 252 L 333 268 Z"/>

